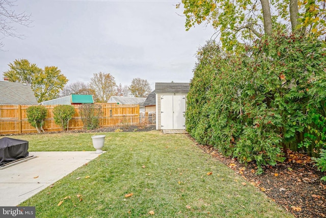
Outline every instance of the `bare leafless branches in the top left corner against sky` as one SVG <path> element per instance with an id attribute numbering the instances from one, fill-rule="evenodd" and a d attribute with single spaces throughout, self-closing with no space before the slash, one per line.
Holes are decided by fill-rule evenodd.
<path id="1" fill-rule="evenodd" d="M 18 23 L 19 25 L 28 27 L 32 20 L 30 20 L 31 15 L 25 14 L 25 12 L 17 13 L 13 7 L 16 1 L 13 0 L 0 0 L 0 34 L 4 37 L 11 36 L 22 38 L 23 35 L 17 34 L 13 23 Z M 4 44 L 0 42 L 0 47 Z"/>

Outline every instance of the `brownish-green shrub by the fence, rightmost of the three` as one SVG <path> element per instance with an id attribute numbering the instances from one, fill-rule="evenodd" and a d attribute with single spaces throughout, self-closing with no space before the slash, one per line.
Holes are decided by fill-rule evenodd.
<path id="1" fill-rule="evenodd" d="M 82 117 L 85 130 L 98 128 L 101 118 L 101 106 L 95 104 L 82 104 L 79 106 L 79 113 Z"/>

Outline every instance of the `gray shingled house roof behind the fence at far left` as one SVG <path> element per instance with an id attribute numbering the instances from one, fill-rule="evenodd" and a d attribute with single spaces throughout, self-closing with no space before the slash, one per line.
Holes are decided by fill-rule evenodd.
<path id="1" fill-rule="evenodd" d="M 37 105 L 30 84 L 0 81 L 0 105 Z"/>

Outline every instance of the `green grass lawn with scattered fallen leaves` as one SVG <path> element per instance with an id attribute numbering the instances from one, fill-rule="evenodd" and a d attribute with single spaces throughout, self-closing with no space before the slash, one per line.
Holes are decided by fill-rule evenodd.
<path id="1" fill-rule="evenodd" d="M 106 153 L 20 206 L 37 217 L 292 217 L 184 134 L 103 134 Z M 95 151 L 92 135 L 11 137 L 29 151 Z"/>

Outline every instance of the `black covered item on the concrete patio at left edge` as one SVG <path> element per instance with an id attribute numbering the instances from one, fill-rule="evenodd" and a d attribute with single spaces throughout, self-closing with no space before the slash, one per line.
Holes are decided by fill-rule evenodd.
<path id="1" fill-rule="evenodd" d="M 15 138 L 0 138 L 0 165 L 28 157 L 29 142 Z"/>

